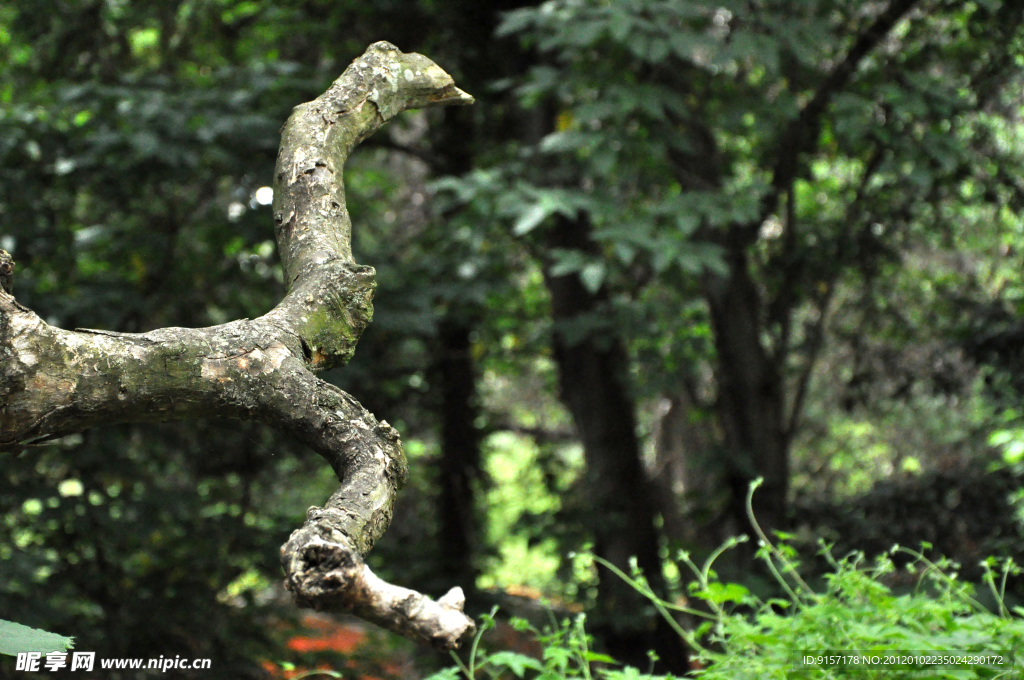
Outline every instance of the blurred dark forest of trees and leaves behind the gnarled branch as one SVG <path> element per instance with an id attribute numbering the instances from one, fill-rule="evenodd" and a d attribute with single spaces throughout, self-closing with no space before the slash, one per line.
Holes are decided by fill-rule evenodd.
<path id="1" fill-rule="evenodd" d="M 810 554 L 927 541 L 970 577 L 1021 552 L 1022 20 L 1009 0 L 7 3 L 0 248 L 63 328 L 255 317 L 283 290 L 266 187 L 291 108 L 374 41 L 427 54 L 477 104 L 406 114 L 346 172 L 379 289 L 328 378 L 412 465 L 371 563 L 477 612 L 583 605 L 612 653 L 673 667 L 678 640 L 579 555 L 670 587 L 673 551 L 750 533 L 758 477 L 763 525 Z M 335 485 L 249 423 L 4 454 L 0 615 L 230 677 L 344 666 L 289 647 L 279 583 Z M 751 558 L 723 568 L 756 584 Z"/>

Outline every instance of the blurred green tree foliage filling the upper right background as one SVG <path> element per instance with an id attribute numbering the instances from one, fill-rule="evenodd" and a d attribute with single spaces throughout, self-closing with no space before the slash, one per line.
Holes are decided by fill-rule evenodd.
<path id="1" fill-rule="evenodd" d="M 510 150 L 507 176 L 464 178 L 463 200 L 490 200 L 510 229 L 529 227 L 519 229 L 528 243 L 542 216 L 591 216 L 600 255 L 555 253 L 553 270 L 617 293 L 603 318 L 633 342 L 638 391 L 686 390 L 690 401 L 707 391 L 695 417 L 717 415 L 716 349 L 728 339 L 709 328 L 694 274 L 750 273 L 751 308 L 763 313 L 748 321 L 794 409 L 779 423 L 797 448 L 794 485 L 815 493 L 822 479 L 852 492 L 951 450 L 984 453 L 993 418 L 978 417 L 962 347 L 1021 373 L 1024 195 L 1000 170 L 1024 162 L 1011 94 L 1020 7 L 920 7 L 855 77 L 835 78 L 881 10 L 840 0 L 517 9 L 500 34 L 543 55 L 517 93 L 553 129 Z M 564 196 L 571 204 L 553 200 Z"/>

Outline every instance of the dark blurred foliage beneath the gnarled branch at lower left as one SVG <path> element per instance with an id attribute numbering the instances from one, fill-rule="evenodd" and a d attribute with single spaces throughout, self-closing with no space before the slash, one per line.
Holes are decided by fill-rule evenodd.
<path id="1" fill-rule="evenodd" d="M 241 673 L 270 644 L 278 545 L 333 484 L 259 428 L 145 431 L 144 445 L 138 430 L 94 430 L 5 461 L 0 607 L 98 654 L 187 648 Z M 266 447 L 291 453 L 275 464 Z M 305 490 L 282 483 L 293 475 Z"/>

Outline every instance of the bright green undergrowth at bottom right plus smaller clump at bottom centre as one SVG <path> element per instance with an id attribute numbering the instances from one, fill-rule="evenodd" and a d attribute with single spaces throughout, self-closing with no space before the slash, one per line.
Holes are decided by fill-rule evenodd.
<path id="1" fill-rule="evenodd" d="M 772 542 L 758 525 L 751 499 L 748 513 L 759 540 L 757 556 L 768 567 L 782 596 L 761 599 L 746 587 L 722 583 L 713 565 L 726 550 L 745 540 L 733 539 L 698 565 L 686 552 L 678 562 L 693 575 L 690 603 L 663 599 L 634 569 L 627 575 L 594 559 L 647 597 L 674 627 L 680 644 L 694 650 L 693 675 L 703 680 L 856 678 L 887 680 L 967 680 L 1024 678 L 1024 607 L 1008 606 L 1007 583 L 1021 572 L 1013 560 L 989 558 L 982 564 L 983 586 L 992 601 L 983 605 L 976 588 L 957 578 L 957 565 L 929 559 L 924 551 L 894 546 L 868 560 L 861 553 L 833 556 L 821 545 L 830 571 L 823 585 L 812 588 L 798 573 L 796 551 L 779 534 Z M 909 559 L 897 567 L 896 555 Z M 906 584 L 905 588 L 894 584 Z M 904 592 L 905 591 L 905 592 Z M 494 614 L 483 618 L 467 661 L 428 680 L 468 678 L 530 678 L 560 680 L 655 680 L 634 668 L 614 668 L 613 660 L 595 653 L 585 630 L 585 618 L 561 622 L 545 632 L 513 620 L 519 630 L 534 633 L 544 651 L 541 658 L 509 651 L 485 652 L 480 636 L 494 627 Z M 680 617 L 699 622 L 693 627 Z M 672 676 L 657 676 L 670 680 Z"/>

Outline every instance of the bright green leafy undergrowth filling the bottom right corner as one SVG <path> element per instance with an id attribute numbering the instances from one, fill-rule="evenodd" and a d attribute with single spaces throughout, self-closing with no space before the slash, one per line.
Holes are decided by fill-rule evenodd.
<path id="1" fill-rule="evenodd" d="M 1021 569 L 1012 560 L 989 558 L 983 582 L 994 600 L 994 611 L 982 605 L 975 588 L 957 579 L 955 565 L 933 561 L 922 552 L 894 546 L 891 554 L 912 558 L 897 569 L 890 556 L 867 563 L 863 554 L 835 559 L 827 546 L 822 555 L 831 564 L 824 585 L 812 588 L 798 573 L 796 552 L 787 538 L 771 542 L 748 512 L 759 534 L 758 557 L 768 566 L 784 597 L 762 600 L 742 586 L 723 584 L 713 570 L 721 550 L 697 566 L 679 555 L 696 577 L 691 595 L 707 611 L 659 600 L 642 584 L 634 587 L 652 598 L 674 622 L 671 610 L 706 620 L 695 631 L 677 626 L 680 636 L 707 664 L 705 678 L 998 678 L 1013 677 L 1024 664 L 1024 610 L 1006 604 L 1007 582 Z M 928 545 L 924 548 L 927 550 Z M 625 578 L 625 575 L 622 575 Z M 900 592 L 896 584 L 906 584 Z M 867 654 L 912 656 L 947 654 L 989 661 L 951 664 L 909 663 L 860 665 L 806 663 L 808 656 Z M 998 660 L 998 661 L 991 661 Z"/>

